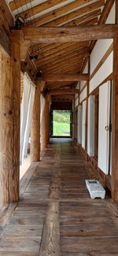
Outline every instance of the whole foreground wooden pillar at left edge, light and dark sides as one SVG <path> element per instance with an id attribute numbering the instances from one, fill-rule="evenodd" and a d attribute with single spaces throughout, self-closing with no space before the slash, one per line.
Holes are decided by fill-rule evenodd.
<path id="1" fill-rule="evenodd" d="M 11 58 L 1 52 L 0 203 L 19 199 L 20 43 L 12 41 Z"/>

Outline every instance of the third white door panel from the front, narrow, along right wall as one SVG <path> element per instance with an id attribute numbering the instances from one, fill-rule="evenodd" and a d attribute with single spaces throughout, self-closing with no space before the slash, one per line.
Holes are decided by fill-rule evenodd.
<path id="1" fill-rule="evenodd" d="M 86 148 L 86 114 L 87 114 L 87 101 L 83 102 L 83 113 L 82 113 L 82 147 Z"/>

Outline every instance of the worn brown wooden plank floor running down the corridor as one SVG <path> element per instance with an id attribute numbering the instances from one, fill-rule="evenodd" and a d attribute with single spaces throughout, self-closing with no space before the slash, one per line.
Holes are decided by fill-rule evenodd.
<path id="1" fill-rule="evenodd" d="M 117 204 L 90 199 L 89 169 L 70 140 L 54 140 L 1 214 L 0 255 L 118 255 Z"/>

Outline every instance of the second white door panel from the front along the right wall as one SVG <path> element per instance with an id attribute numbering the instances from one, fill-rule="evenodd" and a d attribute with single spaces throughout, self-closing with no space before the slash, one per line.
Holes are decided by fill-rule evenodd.
<path id="1" fill-rule="evenodd" d="M 88 98 L 87 154 L 94 157 L 94 102 L 95 97 Z"/>

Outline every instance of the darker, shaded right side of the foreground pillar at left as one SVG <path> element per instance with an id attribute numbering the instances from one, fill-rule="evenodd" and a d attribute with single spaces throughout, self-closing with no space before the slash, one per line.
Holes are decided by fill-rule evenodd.
<path id="1" fill-rule="evenodd" d="M 19 199 L 20 180 L 20 36 L 11 38 L 11 80 L 13 85 L 13 176 L 10 201 Z"/>

